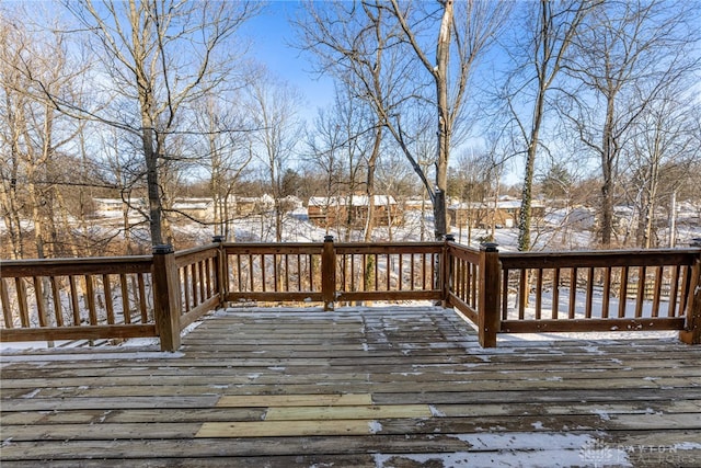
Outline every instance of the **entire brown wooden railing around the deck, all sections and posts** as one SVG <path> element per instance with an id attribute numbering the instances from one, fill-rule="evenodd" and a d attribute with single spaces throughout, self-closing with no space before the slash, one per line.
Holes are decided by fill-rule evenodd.
<path id="1" fill-rule="evenodd" d="M 443 301 L 497 333 L 680 330 L 701 342 L 701 249 L 498 252 L 445 242 L 228 243 L 3 261 L 2 341 L 159 336 L 230 303 Z"/>

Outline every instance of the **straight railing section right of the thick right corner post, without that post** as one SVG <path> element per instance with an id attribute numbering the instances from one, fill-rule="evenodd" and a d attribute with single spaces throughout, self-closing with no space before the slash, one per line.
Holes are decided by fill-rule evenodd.
<path id="1" fill-rule="evenodd" d="M 499 260 L 504 332 L 681 330 L 699 253 L 504 253 Z"/>

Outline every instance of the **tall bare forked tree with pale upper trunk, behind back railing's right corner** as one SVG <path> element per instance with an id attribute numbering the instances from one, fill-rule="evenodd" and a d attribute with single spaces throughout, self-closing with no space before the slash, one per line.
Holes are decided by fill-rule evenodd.
<path id="1" fill-rule="evenodd" d="M 356 83 L 358 94 L 372 106 L 378 126 L 393 136 L 430 196 L 435 235 L 443 237 L 447 232 L 445 192 L 450 148 L 460 123 L 464 123 L 470 77 L 503 25 L 509 5 L 470 1 L 456 7 L 452 0 L 435 5 L 426 11 L 422 2 L 403 7 L 397 0 L 389 4 L 334 3 L 333 9 L 310 4 L 311 19 L 301 25 L 306 45 L 321 57 L 322 68 Z M 424 43 L 429 34 L 426 24 L 437 30 L 435 41 L 428 44 Z M 434 47 L 435 59 L 427 53 Z M 425 70 L 424 77 L 417 73 L 416 65 Z M 435 93 L 424 92 L 429 83 Z M 429 182 L 404 132 L 407 119 L 402 122 L 402 109 L 410 101 L 415 105 L 428 102 L 436 110 L 435 184 Z"/>

